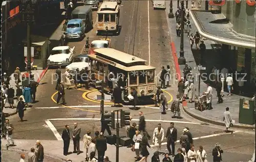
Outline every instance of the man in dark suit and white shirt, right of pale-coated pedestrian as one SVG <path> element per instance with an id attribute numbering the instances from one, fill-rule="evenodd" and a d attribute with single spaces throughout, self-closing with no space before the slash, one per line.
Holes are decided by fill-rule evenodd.
<path id="1" fill-rule="evenodd" d="M 167 129 L 166 136 L 167 139 L 167 149 L 169 151 L 169 155 L 175 155 L 175 145 L 177 141 L 177 129 L 174 127 L 174 123 L 171 122 L 170 126 Z M 172 149 L 170 149 L 170 145 L 172 145 Z"/>

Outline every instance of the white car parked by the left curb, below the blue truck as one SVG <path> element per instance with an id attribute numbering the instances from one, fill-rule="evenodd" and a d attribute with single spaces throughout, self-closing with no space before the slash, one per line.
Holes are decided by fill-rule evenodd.
<path id="1" fill-rule="evenodd" d="M 47 65 L 49 67 L 69 65 L 75 55 L 74 49 L 75 47 L 70 48 L 69 46 L 54 47 L 47 60 Z"/>

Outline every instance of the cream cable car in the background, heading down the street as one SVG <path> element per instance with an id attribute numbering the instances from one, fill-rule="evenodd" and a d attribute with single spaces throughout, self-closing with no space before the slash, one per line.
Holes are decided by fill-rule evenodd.
<path id="1" fill-rule="evenodd" d="M 120 6 L 117 2 L 103 2 L 97 11 L 97 33 L 118 33 Z"/>

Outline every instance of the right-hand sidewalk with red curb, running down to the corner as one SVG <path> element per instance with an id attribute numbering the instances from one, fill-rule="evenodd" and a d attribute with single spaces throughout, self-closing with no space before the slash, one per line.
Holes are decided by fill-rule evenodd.
<path id="1" fill-rule="evenodd" d="M 191 4 L 189 4 L 190 6 Z M 203 8 L 203 5 L 202 5 Z M 175 13 L 177 10 L 177 2 L 173 2 L 173 13 Z M 166 14 L 168 16 L 169 13 L 169 5 L 166 5 Z M 176 36 L 176 18 L 167 18 L 168 20 L 168 26 L 169 26 L 169 34 L 170 37 L 172 39 L 172 50 L 176 52 L 177 55 L 175 55 L 175 53 L 173 53 L 174 55 L 174 60 L 175 64 L 176 64 L 176 71 L 177 73 L 179 73 L 180 75 L 182 74 L 182 70 L 184 68 L 184 65 L 178 65 L 178 58 L 179 58 L 179 51 L 180 51 L 180 37 Z M 191 20 L 191 18 L 189 19 L 191 25 L 192 25 L 192 30 L 190 33 L 193 33 L 195 35 L 195 33 L 197 32 L 196 26 L 193 22 L 193 20 Z M 208 61 L 206 63 L 206 70 L 211 70 L 212 66 L 214 66 L 214 61 L 212 59 L 216 59 L 216 53 L 218 52 L 218 49 L 214 48 L 214 46 L 218 46 L 218 43 L 215 43 L 213 41 L 210 40 L 204 40 L 204 43 L 206 45 L 206 50 L 209 51 L 207 52 L 207 57 L 208 57 Z M 194 44 L 194 48 L 195 48 L 195 44 Z M 186 64 L 188 66 L 190 66 L 193 70 L 193 74 L 199 73 L 198 70 L 195 70 L 194 67 L 197 67 L 196 64 L 196 59 L 197 57 L 197 53 L 193 53 L 193 51 L 196 51 L 193 49 L 193 51 L 190 49 L 190 43 L 189 43 L 189 39 L 188 37 L 186 37 L 186 35 L 184 34 L 184 57 L 186 59 Z M 203 65 L 204 66 L 204 65 Z M 194 83 L 194 87 L 195 87 L 195 95 L 198 95 L 198 78 L 195 78 L 195 83 Z M 255 124 L 254 125 L 247 125 L 247 124 L 240 124 L 239 122 L 239 99 L 240 98 L 245 98 L 248 99 L 246 97 L 243 96 L 239 96 L 239 95 L 232 95 L 232 96 L 227 96 L 225 93 L 225 96 L 223 97 L 224 103 L 222 104 L 217 104 L 218 98 L 217 96 L 217 92 L 215 88 L 213 89 L 213 99 L 212 99 L 212 107 L 214 107 L 214 109 L 209 110 L 209 111 L 197 111 L 195 109 L 195 103 L 187 103 L 186 101 L 183 102 L 183 110 L 189 114 L 190 116 L 199 119 L 203 122 L 209 122 L 209 123 L 214 123 L 217 125 L 224 125 L 224 122 L 222 122 L 223 119 L 223 113 L 225 111 L 225 108 L 228 106 L 230 113 L 232 115 L 232 119 L 234 119 L 236 121 L 236 124 L 234 124 L 234 127 L 239 127 L 239 128 L 248 128 L 248 129 L 253 129 L 255 128 Z M 207 90 L 207 86 L 204 82 L 200 83 L 200 94 L 202 94 L 202 92 Z"/>

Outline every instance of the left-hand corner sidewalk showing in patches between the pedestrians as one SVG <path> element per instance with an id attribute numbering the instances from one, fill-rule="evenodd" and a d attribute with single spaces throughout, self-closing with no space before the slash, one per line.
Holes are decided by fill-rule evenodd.
<path id="1" fill-rule="evenodd" d="M 36 82 L 40 83 L 40 80 L 42 79 L 42 77 L 44 77 L 45 73 L 47 72 L 48 68 L 45 69 L 45 70 L 31 70 L 31 72 L 34 74 L 34 79 L 36 80 Z M 22 72 L 21 73 L 21 76 L 24 74 L 25 72 Z M 15 86 L 15 82 L 14 82 L 14 76 L 13 74 L 11 74 L 11 79 L 10 79 L 10 85 L 9 86 L 12 86 L 14 91 L 15 91 L 15 94 L 16 95 L 16 89 L 17 87 Z M 22 80 L 22 79 L 20 79 Z M 22 83 L 19 83 L 20 86 L 22 86 Z M 5 114 L 6 117 L 9 117 L 9 116 L 12 116 L 12 115 L 15 115 L 16 114 L 16 106 L 17 106 L 17 99 L 14 97 L 14 108 L 11 109 L 9 108 L 9 103 L 6 103 L 6 107 L 5 109 L 3 110 L 3 113 Z"/>

